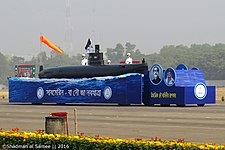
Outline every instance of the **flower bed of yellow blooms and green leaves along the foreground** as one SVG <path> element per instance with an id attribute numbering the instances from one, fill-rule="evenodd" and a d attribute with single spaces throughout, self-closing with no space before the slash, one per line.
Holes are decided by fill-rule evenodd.
<path id="1" fill-rule="evenodd" d="M 88 137 L 79 135 L 46 134 L 43 130 L 36 132 L 19 132 L 0 129 L 0 148 L 3 149 L 78 149 L 78 150 L 153 150 L 153 149 L 224 149 L 225 145 L 194 144 L 182 139 L 174 141 L 159 138 L 113 139 L 111 137 Z"/>

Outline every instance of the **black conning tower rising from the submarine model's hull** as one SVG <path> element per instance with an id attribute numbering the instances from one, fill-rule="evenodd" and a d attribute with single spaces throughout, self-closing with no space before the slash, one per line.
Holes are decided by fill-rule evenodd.
<path id="1" fill-rule="evenodd" d="M 88 53 L 88 65 L 104 65 L 103 60 L 103 53 L 100 53 L 100 45 L 95 45 L 95 52 L 94 53 Z"/>

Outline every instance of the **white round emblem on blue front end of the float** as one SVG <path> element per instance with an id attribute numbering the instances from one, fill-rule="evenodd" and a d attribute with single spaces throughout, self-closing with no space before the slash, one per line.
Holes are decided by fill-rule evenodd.
<path id="1" fill-rule="evenodd" d="M 204 99 L 207 95 L 207 88 L 204 83 L 197 83 L 194 88 L 194 93 L 197 99 Z"/>

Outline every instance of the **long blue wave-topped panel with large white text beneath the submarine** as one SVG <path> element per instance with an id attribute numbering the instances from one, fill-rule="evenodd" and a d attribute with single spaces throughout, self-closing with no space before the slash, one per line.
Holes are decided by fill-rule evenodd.
<path id="1" fill-rule="evenodd" d="M 82 79 L 9 79 L 9 102 L 26 103 L 142 103 L 142 75 Z"/>

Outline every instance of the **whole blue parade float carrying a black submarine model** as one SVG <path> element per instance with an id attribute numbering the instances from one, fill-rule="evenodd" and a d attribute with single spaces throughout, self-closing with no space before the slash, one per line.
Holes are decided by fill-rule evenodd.
<path id="1" fill-rule="evenodd" d="M 43 39 L 42 39 L 43 40 Z M 207 86 L 202 70 L 163 69 L 154 64 L 105 65 L 99 45 L 88 66 L 41 69 L 39 78 L 9 78 L 9 102 L 32 104 L 144 104 L 185 106 L 215 104 L 215 86 Z"/>

